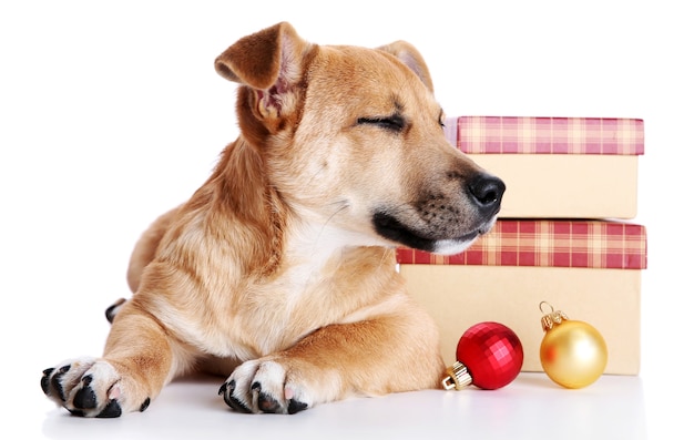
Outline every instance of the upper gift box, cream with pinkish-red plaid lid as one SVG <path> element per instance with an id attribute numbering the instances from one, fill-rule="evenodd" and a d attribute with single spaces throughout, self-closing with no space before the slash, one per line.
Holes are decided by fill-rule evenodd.
<path id="1" fill-rule="evenodd" d="M 459 116 L 446 121 L 446 135 L 504 181 L 500 217 L 636 215 L 643 120 Z"/>

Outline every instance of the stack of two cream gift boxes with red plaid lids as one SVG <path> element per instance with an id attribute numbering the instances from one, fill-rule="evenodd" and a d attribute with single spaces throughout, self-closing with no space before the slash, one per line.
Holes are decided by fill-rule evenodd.
<path id="1" fill-rule="evenodd" d="M 606 374 L 639 374 L 646 235 L 631 221 L 643 121 L 460 116 L 446 126 L 451 144 L 507 185 L 497 225 L 466 252 L 398 249 L 410 293 L 439 324 L 446 362 L 467 328 L 492 320 L 518 334 L 522 370 L 542 371 L 549 304 L 601 332 Z"/>

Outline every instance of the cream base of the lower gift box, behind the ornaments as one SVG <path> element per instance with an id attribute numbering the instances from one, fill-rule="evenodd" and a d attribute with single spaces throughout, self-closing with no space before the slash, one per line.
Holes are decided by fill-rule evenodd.
<path id="1" fill-rule="evenodd" d="M 447 365 L 462 334 L 482 321 L 511 328 L 523 371 L 542 371 L 540 303 L 595 327 L 608 345 L 605 374 L 637 375 L 641 270 L 568 267 L 400 265 L 410 294 L 438 323 Z M 547 311 L 547 306 L 543 306 Z"/>

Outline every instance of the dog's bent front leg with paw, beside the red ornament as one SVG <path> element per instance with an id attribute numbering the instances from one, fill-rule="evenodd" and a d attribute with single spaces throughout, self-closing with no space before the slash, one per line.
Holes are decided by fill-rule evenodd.
<path id="1" fill-rule="evenodd" d="M 409 308 L 330 325 L 285 351 L 246 361 L 220 395 L 237 411 L 295 413 L 349 396 L 436 388 L 443 369 L 436 327 Z"/>

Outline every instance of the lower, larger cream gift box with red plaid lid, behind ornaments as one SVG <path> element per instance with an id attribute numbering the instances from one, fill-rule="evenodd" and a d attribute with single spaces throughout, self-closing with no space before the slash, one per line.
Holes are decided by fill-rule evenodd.
<path id="1" fill-rule="evenodd" d="M 646 234 L 619 221 L 500 219 L 466 252 L 397 250 L 410 294 L 439 325 L 441 352 L 456 360 L 469 327 L 498 321 L 523 345 L 523 371 L 542 371 L 547 305 L 595 327 L 608 345 L 605 374 L 640 369 L 641 270 Z"/>

